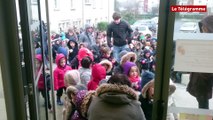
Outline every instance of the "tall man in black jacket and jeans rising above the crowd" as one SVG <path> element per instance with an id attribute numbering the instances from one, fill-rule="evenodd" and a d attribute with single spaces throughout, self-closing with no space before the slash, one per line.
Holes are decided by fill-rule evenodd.
<path id="1" fill-rule="evenodd" d="M 113 56 L 119 62 L 119 53 L 129 49 L 128 38 L 131 38 L 133 30 L 127 22 L 121 20 L 119 13 L 114 12 L 112 18 L 114 21 L 107 28 L 107 44 L 109 47 L 113 46 Z"/>

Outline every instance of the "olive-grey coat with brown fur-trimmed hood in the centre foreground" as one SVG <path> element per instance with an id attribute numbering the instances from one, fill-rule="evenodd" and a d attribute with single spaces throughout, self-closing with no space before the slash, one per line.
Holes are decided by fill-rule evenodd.
<path id="1" fill-rule="evenodd" d="M 136 92 L 126 85 L 103 84 L 88 109 L 88 120 L 145 120 Z"/>

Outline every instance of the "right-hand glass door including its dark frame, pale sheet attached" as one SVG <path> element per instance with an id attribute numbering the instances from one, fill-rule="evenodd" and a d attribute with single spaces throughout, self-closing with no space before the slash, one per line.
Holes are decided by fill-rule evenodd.
<path id="1" fill-rule="evenodd" d="M 206 6 L 207 11 L 171 12 L 172 5 L 185 7 L 184 9 Z M 155 85 L 157 95 L 155 95 L 154 119 L 159 118 L 161 114 L 167 114 L 163 118 L 212 120 L 213 64 L 210 61 L 213 60 L 211 47 L 213 31 L 210 21 L 213 19 L 212 17 L 206 19 L 212 14 L 211 1 L 178 0 L 176 3 L 161 1 L 160 9 L 162 10 L 158 24 L 160 45 L 157 49 L 160 54 L 157 54 L 156 66 L 156 80 L 159 80 L 156 82 L 159 84 Z M 165 23 L 166 33 L 161 32 Z M 168 111 L 164 113 L 166 106 Z"/>

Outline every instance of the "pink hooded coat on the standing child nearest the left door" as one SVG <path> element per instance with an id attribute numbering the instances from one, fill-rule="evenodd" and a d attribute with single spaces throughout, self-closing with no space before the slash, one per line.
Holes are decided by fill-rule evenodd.
<path id="1" fill-rule="evenodd" d="M 64 67 L 60 66 L 60 59 L 65 58 L 63 54 L 58 54 L 56 56 L 56 64 L 57 67 L 55 68 L 53 74 L 54 74 L 54 89 L 58 90 L 59 88 L 65 87 L 64 85 L 64 76 L 66 71 L 72 70 L 72 68 L 68 65 L 65 65 Z"/>

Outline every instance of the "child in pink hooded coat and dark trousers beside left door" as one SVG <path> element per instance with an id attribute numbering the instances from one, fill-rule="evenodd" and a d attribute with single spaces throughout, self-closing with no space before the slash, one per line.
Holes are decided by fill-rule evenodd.
<path id="1" fill-rule="evenodd" d="M 72 70 L 70 66 L 67 64 L 67 59 L 63 54 L 58 54 L 56 56 L 56 64 L 57 67 L 54 70 L 54 89 L 57 90 L 56 96 L 57 96 L 57 104 L 63 105 L 61 102 L 61 96 L 63 94 L 63 90 L 66 89 L 64 85 L 64 75 L 66 71 Z"/>

